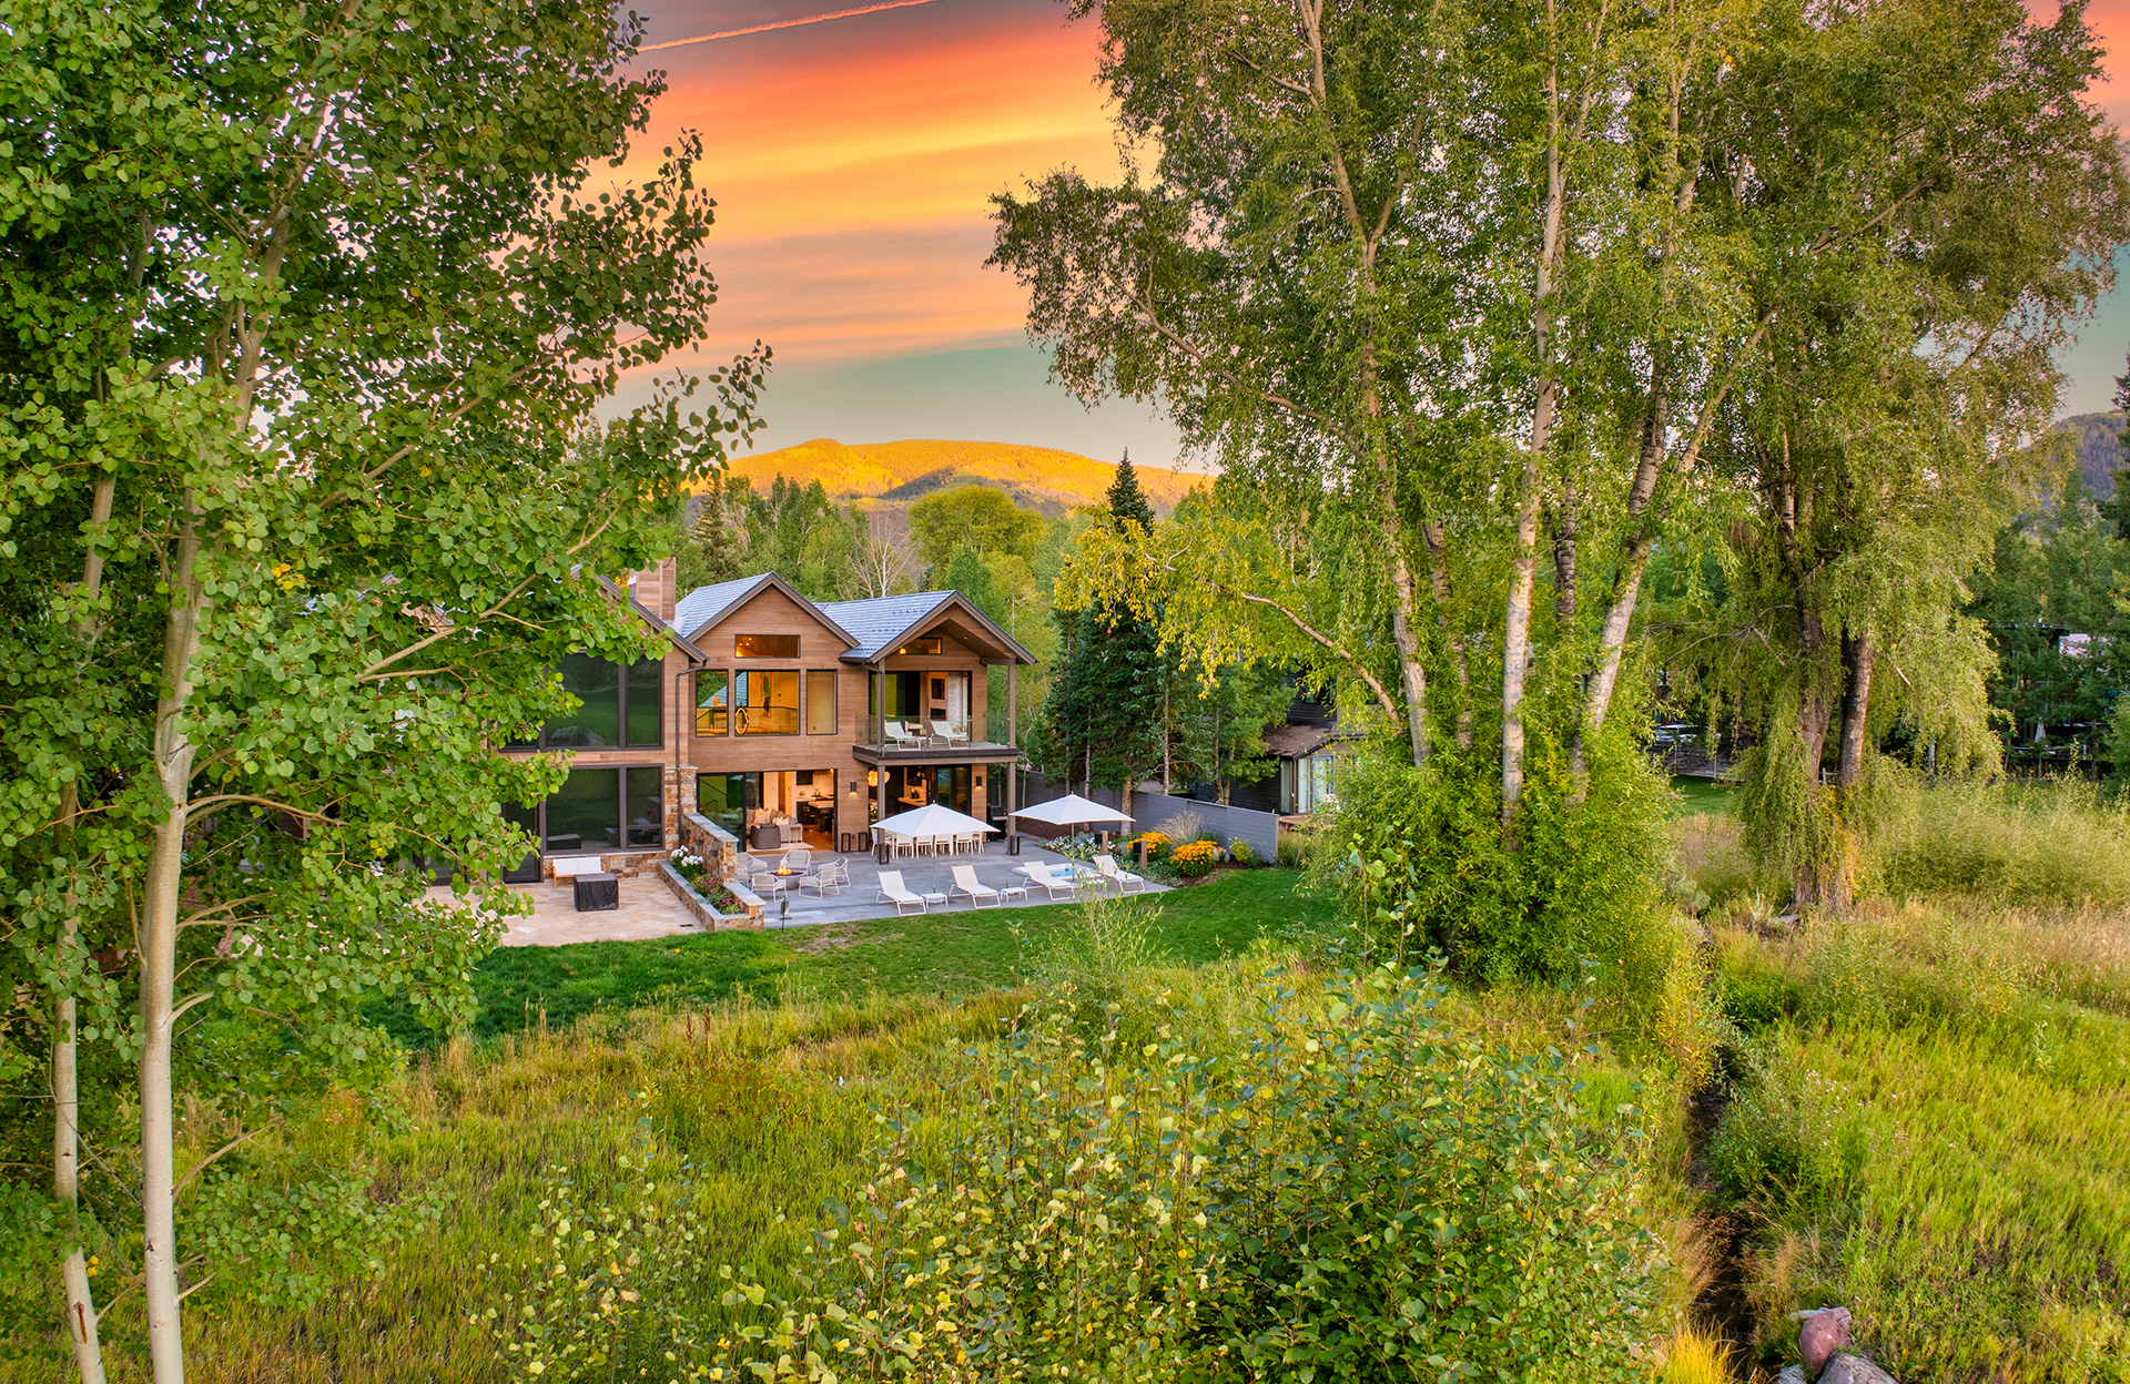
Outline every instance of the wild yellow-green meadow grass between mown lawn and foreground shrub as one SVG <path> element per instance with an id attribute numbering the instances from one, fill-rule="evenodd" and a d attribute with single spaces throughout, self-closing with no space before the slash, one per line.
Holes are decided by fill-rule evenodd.
<path id="1" fill-rule="evenodd" d="M 1265 888 L 1252 877 L 1229 888 L 1238 884 Z M 1157 926 L 1159 939 L 1182 952 L 1240 935 L 1201 935 L 1193 913 L 1174 907 L 1189 894 L 1163 909 L 1176 926 Z M 1071 911 L 1050 916 L 1063 922 Z M 1267 941 L 1242 958 L 1159 969 L 1133 984 L 1169 994 L 1178 1005 L 1172 1014 L 1197 1028 L 1195 1041 L 1231 1041 L 1252 996 L 1276 992 L 1284 1009 L 1321 1014 L 1323 982 Z M 988 1060 L 982 1054 L 1027 999 L 1027 990 L 888 996 L 878 986 L 852 1001 L 741 994 L 705 1007 L 601 1009 L 569 1026 L 458 1039 L 417 1054 L 392 1092 L 396 1120 L 343 1107 L 277 1131 L 262 1152 L 309 1152 L 356 1167 L 379 1203 L 432 1203 L 441 1216 L 407 1237 L 360 1246 L 356 1263 L 332 1271 L 313 1303 L 236 1305 L 202 1292 L 187 1303 L 190 1373 L 213 1384 L 530 1378 L 505 1354 L 511 1333 L 492 1324 L 492 1312 L 518 1320 L 520 1337 L 607 1339 L 626 1335 L 630 1309 L 613 1301 L 622 1290 L 643 1303 L 686 1301 L 699 1322 L 709 1316 L 716 1335 L 726 1329 L 718 1265 L 733 1265 L 771 1295 L 801 1290 L 803 1248 L 824 1224 L 824 1203 L 852 1199 L 878 1175 L 884 1111 L 914 1109 L 935 1124 L 958 1118 L 971 1062 Z M 1487 1048 L 1521 1052 L 1557 1041 L 1572 1011 L 1572 996 L 1506 988 L 1453 994 L 1442 1009 Z M 1570 1056 L 1587 1082 L 1585 1120 L 1612 1120 L 1617 1103 L 1640 1099 L 1644 1073 L 1604 1058 L 1600 1045 L 1574 1045 Z M 1634 1203 L 1644 1207 L 1638 1216 L 1661 1222 L 1676 1188 L 1659 1160 L 1676 1150 L 1678 1131 L 1659 1118 L 1653 1133 L 1651 1184 Z M 679 1224 L 682 1201 L 690 1239 L 671 1252 L 673 1237 L 648 1231 L 643 1214 L 665 1207 L 667 1224 Z M 609 1226 L 609 1218 L 633 1218 L 633 1229 Z M 611 1263 L 607 1252 L 586 1256 L 581 1243 L 609 1231 Z M 539 1273 L 564 1241 L 577 1246 L 588 1273 Z M 281 1267 L 317 1271 L 302 1261 Z M 611 1288 L 607 1307 L 594 1301 L 603 1286 Z M 1659 1320 L 1672 1320 L 1683 1303 L 1676 1288 L 1666 1292 Z M 111 1378 L 145 1380 L 138 1341 L 119 1327 L 124 1314 L 111 1320 Z M 656 1367 L 641 1339 L 635 1350 L 618 1373 L 601 1367 L 562 1378 L 637 1378 L 637 1358 Z M 0 1361 L 0 1380 L 32 1378 L 49 1378 L 49 1367 Z"/>

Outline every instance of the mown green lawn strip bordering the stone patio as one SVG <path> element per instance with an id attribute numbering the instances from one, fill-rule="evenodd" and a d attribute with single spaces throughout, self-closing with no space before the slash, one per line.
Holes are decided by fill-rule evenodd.
<path id="1" fill-rule="evenodd" d="M 1148 899 L 1152 935 L 1178 962 L 1231 956 L 1267 928 L 1321 922 L 1329 901 L 1297 890 L 1284 869 L 1220 871 L 1206 884 Z M 716 1003 L 752 994 L 833 999 L 882 994 L 967 994 L 1010 986 L 1020 975 L 1020 941 L 1069 922 L 1069 907 L 950 909 L 812 928 L 690 933 L 652 941 L 586 941 L 567 948 L 503 948 L 473 973 L 475 1037 L 567 1024 L 594 1009 L 639 1003 Z M 428 1045 L 409 1011 L 379 1007 L 403 1041 Z"/>

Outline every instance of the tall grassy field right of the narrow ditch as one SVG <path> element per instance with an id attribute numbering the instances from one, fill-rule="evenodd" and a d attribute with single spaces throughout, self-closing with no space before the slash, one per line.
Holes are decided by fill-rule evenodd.
<path id="1" fill-rule="evenodd" d="M 1904 1380 L 2130 1380 L 2130 901 L 2081 792 L 1930 790 L 1881 892 L 1802 924 L 1734 822 L 1683 824 L 1738 1028 L 1708 1165 L 1768 1367 L 1791 1312 L 1847 1303 Z"/>

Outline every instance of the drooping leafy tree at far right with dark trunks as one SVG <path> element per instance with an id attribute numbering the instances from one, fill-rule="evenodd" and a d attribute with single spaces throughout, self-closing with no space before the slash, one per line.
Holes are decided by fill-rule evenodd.
<path id="1" fill-rule="evenodd" d="M 1715 445 L 1755 515 L 1700 658 L 1762 718 L 1751 841 L 1842 909 L 1877 732 L 1994 756 L 1968 581 L 2038 479 L 2051 351 L 2113 281 L 2124 166 L 2079 6 L 1785 4 L 1742 53 L 1719 194 L 1766 330 Z"/>

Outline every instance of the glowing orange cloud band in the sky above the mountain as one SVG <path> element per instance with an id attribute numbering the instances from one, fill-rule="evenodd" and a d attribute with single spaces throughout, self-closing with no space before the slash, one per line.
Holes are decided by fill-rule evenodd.
<path id="1" fill-rule="evenodd" d="M 988 198 L 1061 164 L 1118 170 L 1093 81 L 1099 28 L 1063 13 L 1054 0 L 937 0 L 641 60 L 671 85 L 613 177 L 648 175 L 684 128 L 703 134 L 697 181 L 718 198 L 705 258 L 720 283 L 705 349 L 760 336 L 801 364 L 1018 332 L 1018 285 L 982 266 Z M 697 6 L 658 15 L 650 36 L 790 15 Z"/>

